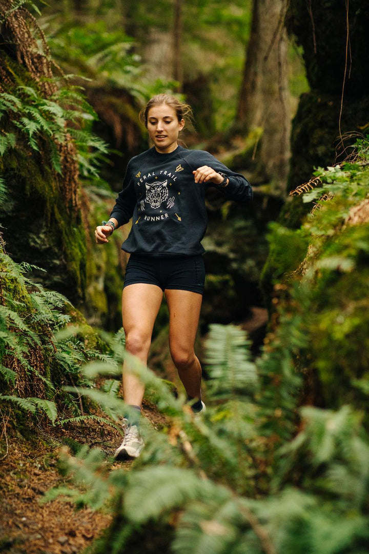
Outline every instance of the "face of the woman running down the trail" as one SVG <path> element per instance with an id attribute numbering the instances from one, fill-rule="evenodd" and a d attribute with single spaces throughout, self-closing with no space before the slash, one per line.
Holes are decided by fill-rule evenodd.
<path id="1" fill-rule="evenodd" d="M 147 130 L 158 152 L 167 154 L 178 146 L 179 131 L 184 120 L 178 121 L 175 110 L 167 104 L 150 107 L 147 114 Z"/>

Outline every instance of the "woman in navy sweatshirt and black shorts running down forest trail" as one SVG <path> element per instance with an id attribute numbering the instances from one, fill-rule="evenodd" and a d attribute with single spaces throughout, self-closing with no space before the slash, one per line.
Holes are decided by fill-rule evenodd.
<path id="1" fill-rule="evenodd" d="M 147 363 L 155 319 L 163 299 L 169 310 L 169 348 L 194 413 L 201 413 L 201 366 L 194 352 L 205 270 L 200 242 L 207 216 L 205 189 L 215 186 L 228 199 L 252 199 L 245 177 L 233 173 L 209 152 L 187 150 L 178 136 L 191 109 L 174 96 L 149 100 L 140 117 L 153 147 L 133 157 L 122 191 L 107 222 L 95 230 L 98 244 L 108 242 L 115 229 L 132 219 L 122 249 L 129 258 L 122 295 L 126 349 Z M 139 414 L 144 387 L 123 365 L 123 396 L 131 406 L 116 459 L 137 458 L 143 448 Z"/>

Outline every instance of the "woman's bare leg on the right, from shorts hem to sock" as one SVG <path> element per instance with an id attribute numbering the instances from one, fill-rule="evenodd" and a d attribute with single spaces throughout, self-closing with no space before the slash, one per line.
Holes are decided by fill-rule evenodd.
<path id="1" fill-rule="evenodd" d="M 201 398 L 201 366 L 194 345 L 202 295 L 189 290 L 165 289 L 169 310 L 169 349 L 186 393 Z"/>

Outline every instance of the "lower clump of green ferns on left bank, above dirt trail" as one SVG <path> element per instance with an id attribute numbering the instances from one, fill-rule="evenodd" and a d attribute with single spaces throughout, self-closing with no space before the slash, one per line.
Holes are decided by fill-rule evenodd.
<path id="1" fill-rule="evenodd" d="M 0 403 L 34 417 L 42 412 L 55 424 L 58 411 L 59 416 L 80 413 L 74 385 L 87 383 L 80 367 L 100 353 L 85 346 L 78 329 L 66 328 L 69 302 L 30 280 L 30 269 L 1 249 Z M 63 392 L 61 386 L 69 383 L 71 393 Z"/>

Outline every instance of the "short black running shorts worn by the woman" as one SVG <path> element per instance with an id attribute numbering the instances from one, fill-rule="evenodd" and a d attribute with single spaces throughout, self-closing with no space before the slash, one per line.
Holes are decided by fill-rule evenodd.
<path id="1" fill-rule="evenodd" d="M 205 284 L 204 260 L 201 254 L 165 257 L 131 254 L 124 276 L 124 287 L 135 283 L 157 285 L 162 290 L 190 290 L 194 293 L 203 294 Z"/>

